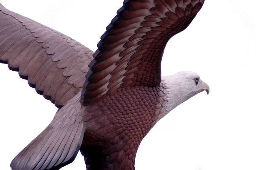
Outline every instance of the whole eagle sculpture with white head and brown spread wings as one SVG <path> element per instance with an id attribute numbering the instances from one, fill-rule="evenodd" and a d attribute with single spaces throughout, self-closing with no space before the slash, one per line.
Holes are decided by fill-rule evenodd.
<path id="1" fill-rule="evenodd" d="M 161 77 L 168 40 L 204 0 L 125 0 L 96 52 L 0 5 L 0 62 L 58 111 L 12 170 L 58 170 L 81 152 L 87 170 L 134 170 L 140 142 L 168 112 L 209 86 L 194 72 Z"/>

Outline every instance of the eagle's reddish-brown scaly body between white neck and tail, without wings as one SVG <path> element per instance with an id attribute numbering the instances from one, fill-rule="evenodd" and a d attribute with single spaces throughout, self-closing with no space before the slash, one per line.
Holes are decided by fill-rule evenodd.
<path id="1" fill-rule="evenodd" d="M 87 157 L 87 166 L 101 161 L 90 161 L 88 146 L 102 149 L 106 170 L 133 170 L 140 142 L 163 116 L 167 106 L 165 85 L 158 87 L 128 86 L 103 98 L 97 106 L 84 112 L 87 130 L 84 133 L 81 153 Z M 86 107 L 86 106 L 85 106 Z M 93 108 L 91 108 L 93 107 Z M 84 149 L 85 148 L 85 149 Z"/>

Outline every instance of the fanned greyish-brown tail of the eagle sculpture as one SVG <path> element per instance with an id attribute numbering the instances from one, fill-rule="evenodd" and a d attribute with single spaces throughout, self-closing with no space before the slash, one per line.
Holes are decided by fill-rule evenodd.
<path id="1" fill-rule="evenodd" d="M 69 107 L 81 109 L 76 105 Z M 13 159 L 12 170 L 55 170 L 75 159 L 85 126 L 81 118 L 73 118 L 79 115 L 68 118 L 67 109 L 68 106 L 64 106 L 58 110 L 49 126 Z M 76 112 L 76 109 L 69 109 L 69 112 Z M 73 120 L 71 124 L 67 123 L 69 119 Z"/>

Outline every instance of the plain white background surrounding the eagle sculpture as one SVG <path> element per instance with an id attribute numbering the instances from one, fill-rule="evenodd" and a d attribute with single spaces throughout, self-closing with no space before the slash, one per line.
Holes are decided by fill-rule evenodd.
<path id="1" fill-rule="evenodd" d="M 3 5 L 96 50 L 122 0 L 1 0 Z M 210 86 L 143 139 L 137 170 L 256 169 L 254 0 L 205 0 L 166 46 L 162 74 L 197 72 Z M 0 64 L 0 169 L 50 123 L 57 108 Z M 61 170 L 84 170 L 81 154 Z"/>

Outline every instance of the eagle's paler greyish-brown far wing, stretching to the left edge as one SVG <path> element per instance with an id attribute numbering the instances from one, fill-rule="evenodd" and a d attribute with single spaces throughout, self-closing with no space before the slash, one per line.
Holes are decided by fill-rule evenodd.
<path id="1" fill-rule="evenodd" d="M 0 4 L 0 63 L 8 63 L 56 107 L 81 90 L 92 54 L 70 37 Z"/>

